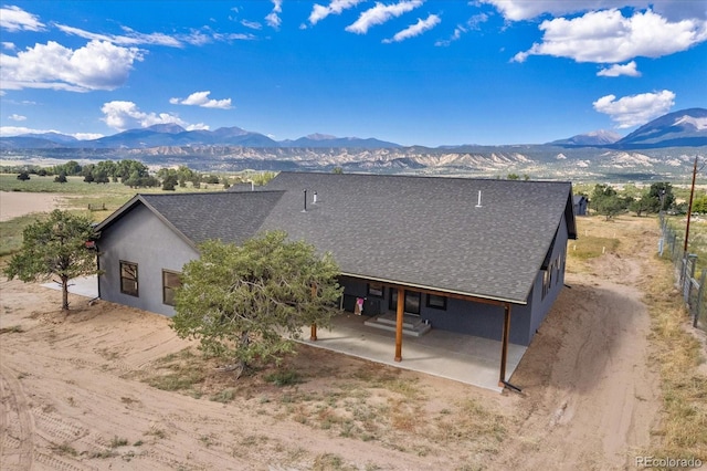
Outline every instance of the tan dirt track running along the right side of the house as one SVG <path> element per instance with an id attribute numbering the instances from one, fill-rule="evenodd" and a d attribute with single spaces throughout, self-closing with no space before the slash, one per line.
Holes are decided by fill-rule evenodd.
<path id="1" fill-rule="evenodd" d="M 592 275 L 568 274 L 571 291 L 561 293 L 524 358 L 532 367 L 524 370 L 521 362 L 517 370 L 519 384 L 534 379 L 524 390 L 527 412 L 495 463 L 626 469 L 632 453 L 650 443 L 659 391 L 640 286 L 650 278 L 652 252 L 636 247 L 631 253 L 593 260 Z"/>

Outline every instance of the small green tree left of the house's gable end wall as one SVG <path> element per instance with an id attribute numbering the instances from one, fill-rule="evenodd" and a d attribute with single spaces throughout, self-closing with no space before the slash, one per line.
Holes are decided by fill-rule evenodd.
<path id="1" fill-rule="evenodd" d="M 22 248 L 12 255 L 4 274 L 23 282 L 55 280 L 62 285 L 62 310 L 68 310 L 68 281 L 98 272 L 93 221 L 55 209 L 49 219 L 34 222 L 22 233 Z"/>

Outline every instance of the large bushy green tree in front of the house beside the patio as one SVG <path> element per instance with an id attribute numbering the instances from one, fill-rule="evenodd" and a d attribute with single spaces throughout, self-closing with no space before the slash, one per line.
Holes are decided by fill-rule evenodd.
<path id="1" fill-rule="evenodd" d="M 302 327 L 330 324 L 341 295 L 330 254 L 317 257 L 282 231 L 242 245 L 205 242 L 200 253 L 183 268 L 171 326 L 198 338 L 207 355 L 233 362 L 236 376 L 256 358 L 278 363 Z"/>

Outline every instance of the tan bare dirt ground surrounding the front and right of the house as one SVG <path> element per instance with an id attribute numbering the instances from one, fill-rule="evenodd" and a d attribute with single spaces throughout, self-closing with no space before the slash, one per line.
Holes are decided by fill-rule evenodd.
<path id="1" fill-rule="evenodd" d="M 661 408 L 642 302 L 657 224 L 582 224 L 623 250 L 571 263 L 511 378 L 523 394 L 306 346 L 298 385 L 210 370 L 162 390 L 146 381 L 193 347 L 168 318 L 75 295 L 65 314 L 59 292 L 2 279 L 0 469 L 634 469 Z"/>

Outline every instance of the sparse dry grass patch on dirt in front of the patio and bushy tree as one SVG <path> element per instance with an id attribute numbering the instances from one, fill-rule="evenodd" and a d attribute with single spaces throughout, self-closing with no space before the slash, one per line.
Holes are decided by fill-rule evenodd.
<path id="1" fill-rule="evenodd" d="M 330 352 L 298 345 L 298 353 L 279 368 L 257 366 L 235 379 L 217 371 L 192 350 L 154 363 L 140 377 L 154 387 L 209 398 L 225 407 L 251 408 L 277 421 L 289 420 L 331 437 L 374 441 L 419 456 L 444 456 L 456 449 L 465 461 L 483 462 L 497 452 L 507 437 L 509 418 L 493 405 L 472 398 L 451 398 L 442 406 L 414 374 L 384 365 L 341 358 Z M 435 400 L 431 400 L 435 399 Z M 424 437 L 421 441 L 420 438 Z M 254 438 L 234 446 L 245 453 Z M 317 457 L 313 469 L 349 469 L 339 457 Z"/>

